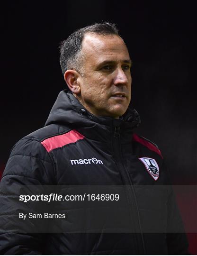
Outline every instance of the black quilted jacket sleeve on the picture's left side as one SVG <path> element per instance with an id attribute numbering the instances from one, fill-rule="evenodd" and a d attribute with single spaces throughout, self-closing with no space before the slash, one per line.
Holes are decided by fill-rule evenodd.
<path id="1" fill-rule="evenodd" d="M 41 241 L 43 243 L 45 234 L 13 231 L 20 230 L 24 223 L 16 216 L 16 212 L 29 211 L 28 204 L 19 202 L 18 195 L 23 186 L 42 187 L 42 184 L 53 182 L 54 165 L 45 148 L 36 139 L 21 139 L 10 154 L 0 182 L 0 254 L 42 254 Z M 26 228 L 31 230 L 31 220 L 25 225 L 29 225 Z"/>

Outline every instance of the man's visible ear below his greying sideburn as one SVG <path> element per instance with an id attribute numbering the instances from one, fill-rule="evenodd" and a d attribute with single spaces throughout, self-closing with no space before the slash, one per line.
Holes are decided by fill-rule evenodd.
<path id="1" fill-rule="evenodd" d="M 80 74 L 72 69 L 66 70 L 63 76 L 69 90 L 72 91 L 72 93 L 74 94 L 79 94 L 81 92 L 81 87 L 78 80 L 79 76 Z"/>

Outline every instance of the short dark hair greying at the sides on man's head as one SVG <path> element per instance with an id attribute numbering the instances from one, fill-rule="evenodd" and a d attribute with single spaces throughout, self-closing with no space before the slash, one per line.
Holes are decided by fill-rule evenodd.
<path id="1" fill-rule="evenodd" d="M 86 33 L 98 35 L 118 35 L 116 25 L 109 22 L 95 23 L 74 31 L 66 40 L 60 43 L 60 65 L 62 73 L 68 69 L 81 70 L 82 56 L 80 55 L 82 41 Z"/>

